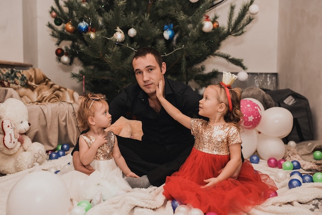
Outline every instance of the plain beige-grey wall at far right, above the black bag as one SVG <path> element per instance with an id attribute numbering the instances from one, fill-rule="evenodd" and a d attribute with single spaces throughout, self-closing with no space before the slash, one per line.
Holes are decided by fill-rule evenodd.
<path id="1" fill-rule="evenodd" d="M 279 87 L 308 98 L 314 139 L 322 139 L 322 1 L 280 1 Z"/>

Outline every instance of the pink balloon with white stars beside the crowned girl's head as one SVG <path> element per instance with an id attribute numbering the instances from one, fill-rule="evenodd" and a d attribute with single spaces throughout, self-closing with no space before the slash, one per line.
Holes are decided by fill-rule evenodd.
<path id="1" fill-rule="evenodd" d="M 259 105 L 252 100 L 242 99 L 240 101 L 240 110 L 244 115 L 241 126 L 246 129 L 256 128 L 262 118 L 262 111 Z"/>

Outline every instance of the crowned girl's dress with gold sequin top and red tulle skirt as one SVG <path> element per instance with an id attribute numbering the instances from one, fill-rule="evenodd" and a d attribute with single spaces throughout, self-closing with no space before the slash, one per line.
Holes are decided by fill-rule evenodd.
<path id="1" fill-rule="evenodd" d="M 204 213 L 243 214 L 277 190 L 274 181 L 254 170 L 248 160 L 237 180 L 228 178 L 214 187 L 201 188 L 206 185 L 203 180 L 218 176 L 227 164 L 229 146 L 242 140 L 238 129 L 229 123 L 210 126 L 203 119 L 191 119 L 190 125 L 195 144 L 179 171 L 167 177 L 163 192 L 167 199 L 191 204 Z"/>

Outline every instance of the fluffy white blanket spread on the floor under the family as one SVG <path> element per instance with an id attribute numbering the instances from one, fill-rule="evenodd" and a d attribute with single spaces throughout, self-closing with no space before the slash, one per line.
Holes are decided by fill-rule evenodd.
<path id="1" fill-rule="evenodd" d="M 41 166 L 35 166 L 31 169 L 24 170 L 12 175 L 0 177 L 0 214 L 6 214 L 6 201 L 8 194 L 14 184 L 29 172 L 39 169 L 47 170 L 50 167 L 62 169 L 64 165 L 71 162 L 71 155 L 68 154 L 57 160 L 48 160 Z M 278 168 L 267 166 L 265 160 L 260 160 L 259 164 L 253 164 L 256 170 L 269 174 L 274 179 L 277 171 L 283 171 Z M 262 205 L 254 207 L 247 214 L 265 215 L 265 214 L 322 214 L 322 183 L 303 183 L 302 186 L 289 189 L 289 175 L 282 182 L 276 182 L 279 188 L 278 196 L 265 201 Z M 307 173 L 301 170 L 303 173 Z M 163 187 L 150 187 L 148 189 L 134 189 L 132 192 L 115 196 L 108 201 L 96 205 L 88 210 L 86 215 L 99 214 L 173 214 L 171 202 L 167 201 L 162 194 Z M 72 206 L 72 205 L 71 205 Z M 319 209 L 321 208 L 321 209 Z"/>

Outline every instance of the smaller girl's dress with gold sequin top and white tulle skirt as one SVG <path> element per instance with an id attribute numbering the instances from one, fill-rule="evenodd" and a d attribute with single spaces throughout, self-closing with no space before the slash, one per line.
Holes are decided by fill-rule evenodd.
<path id="1" fill-rule="evenodd" d="M 86 133 L 81 134 L 80 138 L 84 138 L 88 147 L 91 147 L 95 141 L 95 137 Z M 109 131 L 106 135 L 106 139 L 109 141 L 98 148 L 91 163 L 91 166 L 95 169 L 91 175 L 88 176 L 76 170 L 62 175 L 70 197 L 74 201 L 89 200 L 92 201 L 93 205 L 96 205 L 117 194 L 132 190 L 124 180 L 122 171 L 113 158 L 115 138 L 115 134 Z"/>

